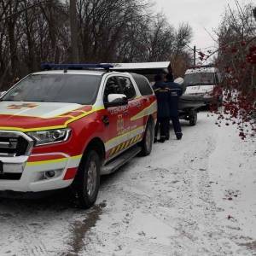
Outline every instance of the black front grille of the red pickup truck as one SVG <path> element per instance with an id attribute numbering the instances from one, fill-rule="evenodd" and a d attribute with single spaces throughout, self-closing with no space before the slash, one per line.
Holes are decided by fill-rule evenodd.
<path id="1" fill-rule="evenodd" d="M 32 145 L 32 139 L 20 131 L 0 131 L 0 157 L 27 155 Z"/>

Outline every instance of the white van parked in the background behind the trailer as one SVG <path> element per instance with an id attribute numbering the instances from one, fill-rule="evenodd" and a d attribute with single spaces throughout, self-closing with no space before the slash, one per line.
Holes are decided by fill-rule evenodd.
<path id="1" fill-rule="evenodd" d="M 222 102 L 222 92 L 217 97 L 213 96 L 213 89 L 220 84 L 221 75 L 218 68 L 211 66 L 200 66 L 189 68 L 184 76 L 186 90 L 184 95 L 193 95 L 201 98 L 206 105 Z"/>

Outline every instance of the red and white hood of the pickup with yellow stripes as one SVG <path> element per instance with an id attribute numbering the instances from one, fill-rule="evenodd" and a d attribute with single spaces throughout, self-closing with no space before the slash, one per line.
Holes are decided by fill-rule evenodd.
<path id="1" fill-rule="evenodd" d="M 91 106 L 61 102 L 0 102 L 0 129 L 35 131 L 67 126 Z"/>

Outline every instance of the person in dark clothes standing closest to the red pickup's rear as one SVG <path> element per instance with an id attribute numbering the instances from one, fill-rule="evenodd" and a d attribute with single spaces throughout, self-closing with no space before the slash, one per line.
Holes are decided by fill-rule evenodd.
<path id="1" fill-rule="evenodd" d="M 154 129 L 154 143 L 157 142 L 158 131 L 160 128 L 160 143 L 166 141 L 166 134 L 169 129 L 169 119 L 170 119 L 170 108 L 169 108 L 169 98 L 170 92 L 164 83 L 164 78 L 162 74 L 157 74 L 154 77 L 155 84 L 153 85 L 154 94 L 157 100 L 157 122 Z"/>

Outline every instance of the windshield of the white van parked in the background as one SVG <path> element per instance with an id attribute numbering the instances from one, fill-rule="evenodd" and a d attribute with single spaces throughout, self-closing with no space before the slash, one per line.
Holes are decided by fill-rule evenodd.
<path id="1" fill-rule="evenodd" d="M 193 85 L 214 85 L 214 73 L 189 73 L 184 77 L 184 84 Z"/>

